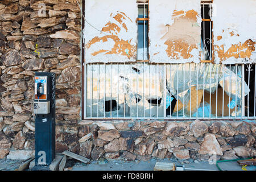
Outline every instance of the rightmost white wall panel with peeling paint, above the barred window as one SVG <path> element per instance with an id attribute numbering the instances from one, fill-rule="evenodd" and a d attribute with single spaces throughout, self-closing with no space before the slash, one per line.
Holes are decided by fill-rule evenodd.
<path id="1" fill-rule="evenodd" d="M 214 0 L 215 63 L 256 63 L 256 1 Z"/>

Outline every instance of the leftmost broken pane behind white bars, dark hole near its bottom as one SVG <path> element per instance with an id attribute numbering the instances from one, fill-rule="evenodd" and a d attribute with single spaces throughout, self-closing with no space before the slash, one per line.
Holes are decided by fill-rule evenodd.
<path id="1" fill-rule="evenodd" d="M 125 113 L 127 116 L 128 106 L 125 104 L 127 78 L 120 74 L 122 72 L 124 68 L 118 67 L 117 64 L 88 65 L 86 115 L 123 117 Z"/>

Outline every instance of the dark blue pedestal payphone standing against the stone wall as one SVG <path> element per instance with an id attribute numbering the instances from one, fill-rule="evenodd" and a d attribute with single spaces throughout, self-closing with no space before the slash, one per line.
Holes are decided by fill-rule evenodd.
<path id="1" fill-rule="evenodd" d="M 55 73 L 35 72 L 35 167 L 55 158 Z"/>

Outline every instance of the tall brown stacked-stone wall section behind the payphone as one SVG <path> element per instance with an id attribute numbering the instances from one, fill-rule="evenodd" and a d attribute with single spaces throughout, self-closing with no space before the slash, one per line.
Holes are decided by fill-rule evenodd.
<path id="1" fill-rule="evenodd" d="M 58 141 L 77 133 L 67 126 L 80 119 L 80 32 L 76 1 L 0 1 L 0 159 L 34 155 L 34 72 L 56 73 Z"/>

